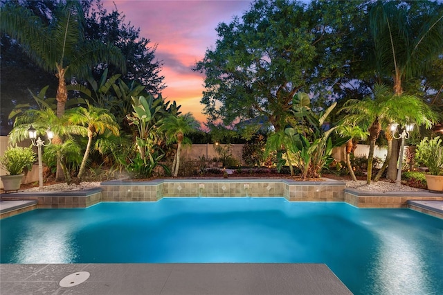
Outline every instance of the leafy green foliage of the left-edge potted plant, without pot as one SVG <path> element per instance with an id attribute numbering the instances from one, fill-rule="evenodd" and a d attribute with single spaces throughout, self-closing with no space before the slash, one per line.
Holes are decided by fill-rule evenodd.
<path id="1" fill-rule="evenodd" d="M 35 162 L 35 152 L 32 147 L 8 147 L 0 157 L 0 166 L 9 175 L 20 175 L 25 168 L 30 170 Z"/>

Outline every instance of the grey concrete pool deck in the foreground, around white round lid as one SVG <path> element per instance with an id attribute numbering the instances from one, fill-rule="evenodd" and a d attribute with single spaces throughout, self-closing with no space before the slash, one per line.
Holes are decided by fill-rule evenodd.
<path id="1" fill-rule="evenodd" d="M 89 278 L 60 287 L 79 271 Z M 352 294 L 324 264 L 0 265 L 0 294 Z"/>

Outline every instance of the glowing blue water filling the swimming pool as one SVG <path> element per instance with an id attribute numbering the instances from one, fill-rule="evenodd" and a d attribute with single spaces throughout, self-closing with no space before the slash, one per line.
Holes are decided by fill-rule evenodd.
<path id="1" fill-rule="evenodd" d="M 354 294 L 441 294 L 443 220 L 283 198 L 164 198 L 1 220 L 1 263 L 325 263 Z"/>

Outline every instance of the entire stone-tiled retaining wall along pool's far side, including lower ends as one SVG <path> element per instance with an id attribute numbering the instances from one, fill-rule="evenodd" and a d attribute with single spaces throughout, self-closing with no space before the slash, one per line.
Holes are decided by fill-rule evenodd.
<path id="1" fill-rule="evenodd" d="M 358 208 L 408 208 L 408 200 L 443 201 L 443 194 L 361 192 L 343 181 L 290 179 L 157 179 L 105 181 L 100 188 L 73 192 L 1 194 L 3 200 L 33 199 L 38 208 L 87 208 L 98 202 L 156 202 L 163 197 L 284 197 L 290 202 L 347 202 Z"/>

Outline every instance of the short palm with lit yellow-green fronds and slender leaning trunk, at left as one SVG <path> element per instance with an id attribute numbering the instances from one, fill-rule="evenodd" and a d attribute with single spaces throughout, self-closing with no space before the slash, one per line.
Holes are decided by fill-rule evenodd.
<path id="1" fill-rule="evenodd" d="M 69 123 L 87 128 L 88 143 L 78 172 L 79 179 L 82 179 L 84 175 L 93 137 L 97 134 L 103 134 L 108 130 L 114 135 L 118 135 L 119 133 L 116 119 L 112 114 L 109 114 L 107 109 L 93 107 L 89 102 L 87 102 L 87 106 L 87 108 L 77 107 L 75 109 L 69 109 L 66 112 Z"/>

